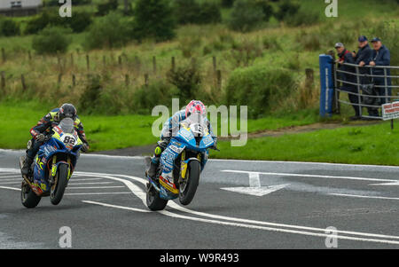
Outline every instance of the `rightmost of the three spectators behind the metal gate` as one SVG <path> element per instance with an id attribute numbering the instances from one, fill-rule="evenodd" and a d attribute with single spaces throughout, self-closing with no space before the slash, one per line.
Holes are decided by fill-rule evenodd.
<path id="1" fill-rule="evenodd" d="M 372 39 L 372 47 L 374 50 L 372 51 L 372 61 L 370 62 L 370 66 L 389 66 L 391 63 L 391 55 L 389 50 L 385 45 L 381 43 L 381 40 L 378 37 Z M 372 75 L 380 75 L 383 76 L 384 69 L 375 67 L 372 68 Z M 387 68 L 387 75 L 391 75 L 390 69 Z M 384 77 L 373 77 L 374 85 L 379 85 L 383 87 L 376 87 L 377 93 L 379 96 L 391 96 L 391 78 L 388 77 L 387 80 Z M 386 83 L 387 81 L 387 83 Z M 380 98 L 379 105 L 385 104 L 389 101 L 390 98 Z"/>

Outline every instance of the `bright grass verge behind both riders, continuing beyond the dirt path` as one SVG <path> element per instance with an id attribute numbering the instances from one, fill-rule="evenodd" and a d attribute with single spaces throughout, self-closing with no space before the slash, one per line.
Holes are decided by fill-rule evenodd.
<path id="1" fill-rule="evenodd" d="M 24 149 L 31 138 L 29 130 L 52 108 L 38 101 L 0 102 L 0 147 Z M 152 134 L 153 122 L 159 117 L 151 115 L 79 115 L 90 142 L 91 152 L 120 149 L 129 146 L 155 144 L 159 137 Z M 248 121 L 248 131 L 276 130 L 279 128 L 316 122 L 317 116 L 302 113 L 285 117 L 266 117 Z M 162 122 L 163 123 L 163 122 Z M 220 133 L 220 130 L 218 131 Z"/>

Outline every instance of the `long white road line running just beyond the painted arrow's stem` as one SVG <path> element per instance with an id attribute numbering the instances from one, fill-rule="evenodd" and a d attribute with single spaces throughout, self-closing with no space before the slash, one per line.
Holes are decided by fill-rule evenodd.
<path id="1" fill-rule="evenodd" d="M 337 176 L 310 175 L 310 174 L 298 174 L 298 173 L 246 171 L 246 170 L 236 170 L 236 169 L 223 169 L 221 171 L 232 172 L 232 173 L 246 173 L 246 174 L 257 173 L 265 176 L 280 176 L 280 177 L 312 177 L 312 178 L 346 179 L 346 180 L 372 181 L 372 182 L 398 182 L 398 180 L 393 180 L 393 179 L 377 179 L 377 178 L 365 178 L 365 177 L 337 177 Z"/>

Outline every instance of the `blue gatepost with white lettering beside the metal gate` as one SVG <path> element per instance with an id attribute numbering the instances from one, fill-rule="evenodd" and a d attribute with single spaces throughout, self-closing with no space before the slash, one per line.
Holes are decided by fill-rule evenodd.
<path id="1" fill-rule="evenodd" d="M 332 115 L 332 98 L 334 95 L 334 81 L 332 79 L 333 59 L 330 55 L 320 55 L 320 116 Z"/>

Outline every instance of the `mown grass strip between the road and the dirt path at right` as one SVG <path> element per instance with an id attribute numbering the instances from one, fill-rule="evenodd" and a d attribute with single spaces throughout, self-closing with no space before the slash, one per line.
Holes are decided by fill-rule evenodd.
<path id="1" fill-rule="evenodd" d="M 254 138 L 244 147 L 228 141 L 218 146 L 221 151 L 212 151 L 211 158 L 399 165 L 399 130 L 391 130 L 389 122 Z"/>

